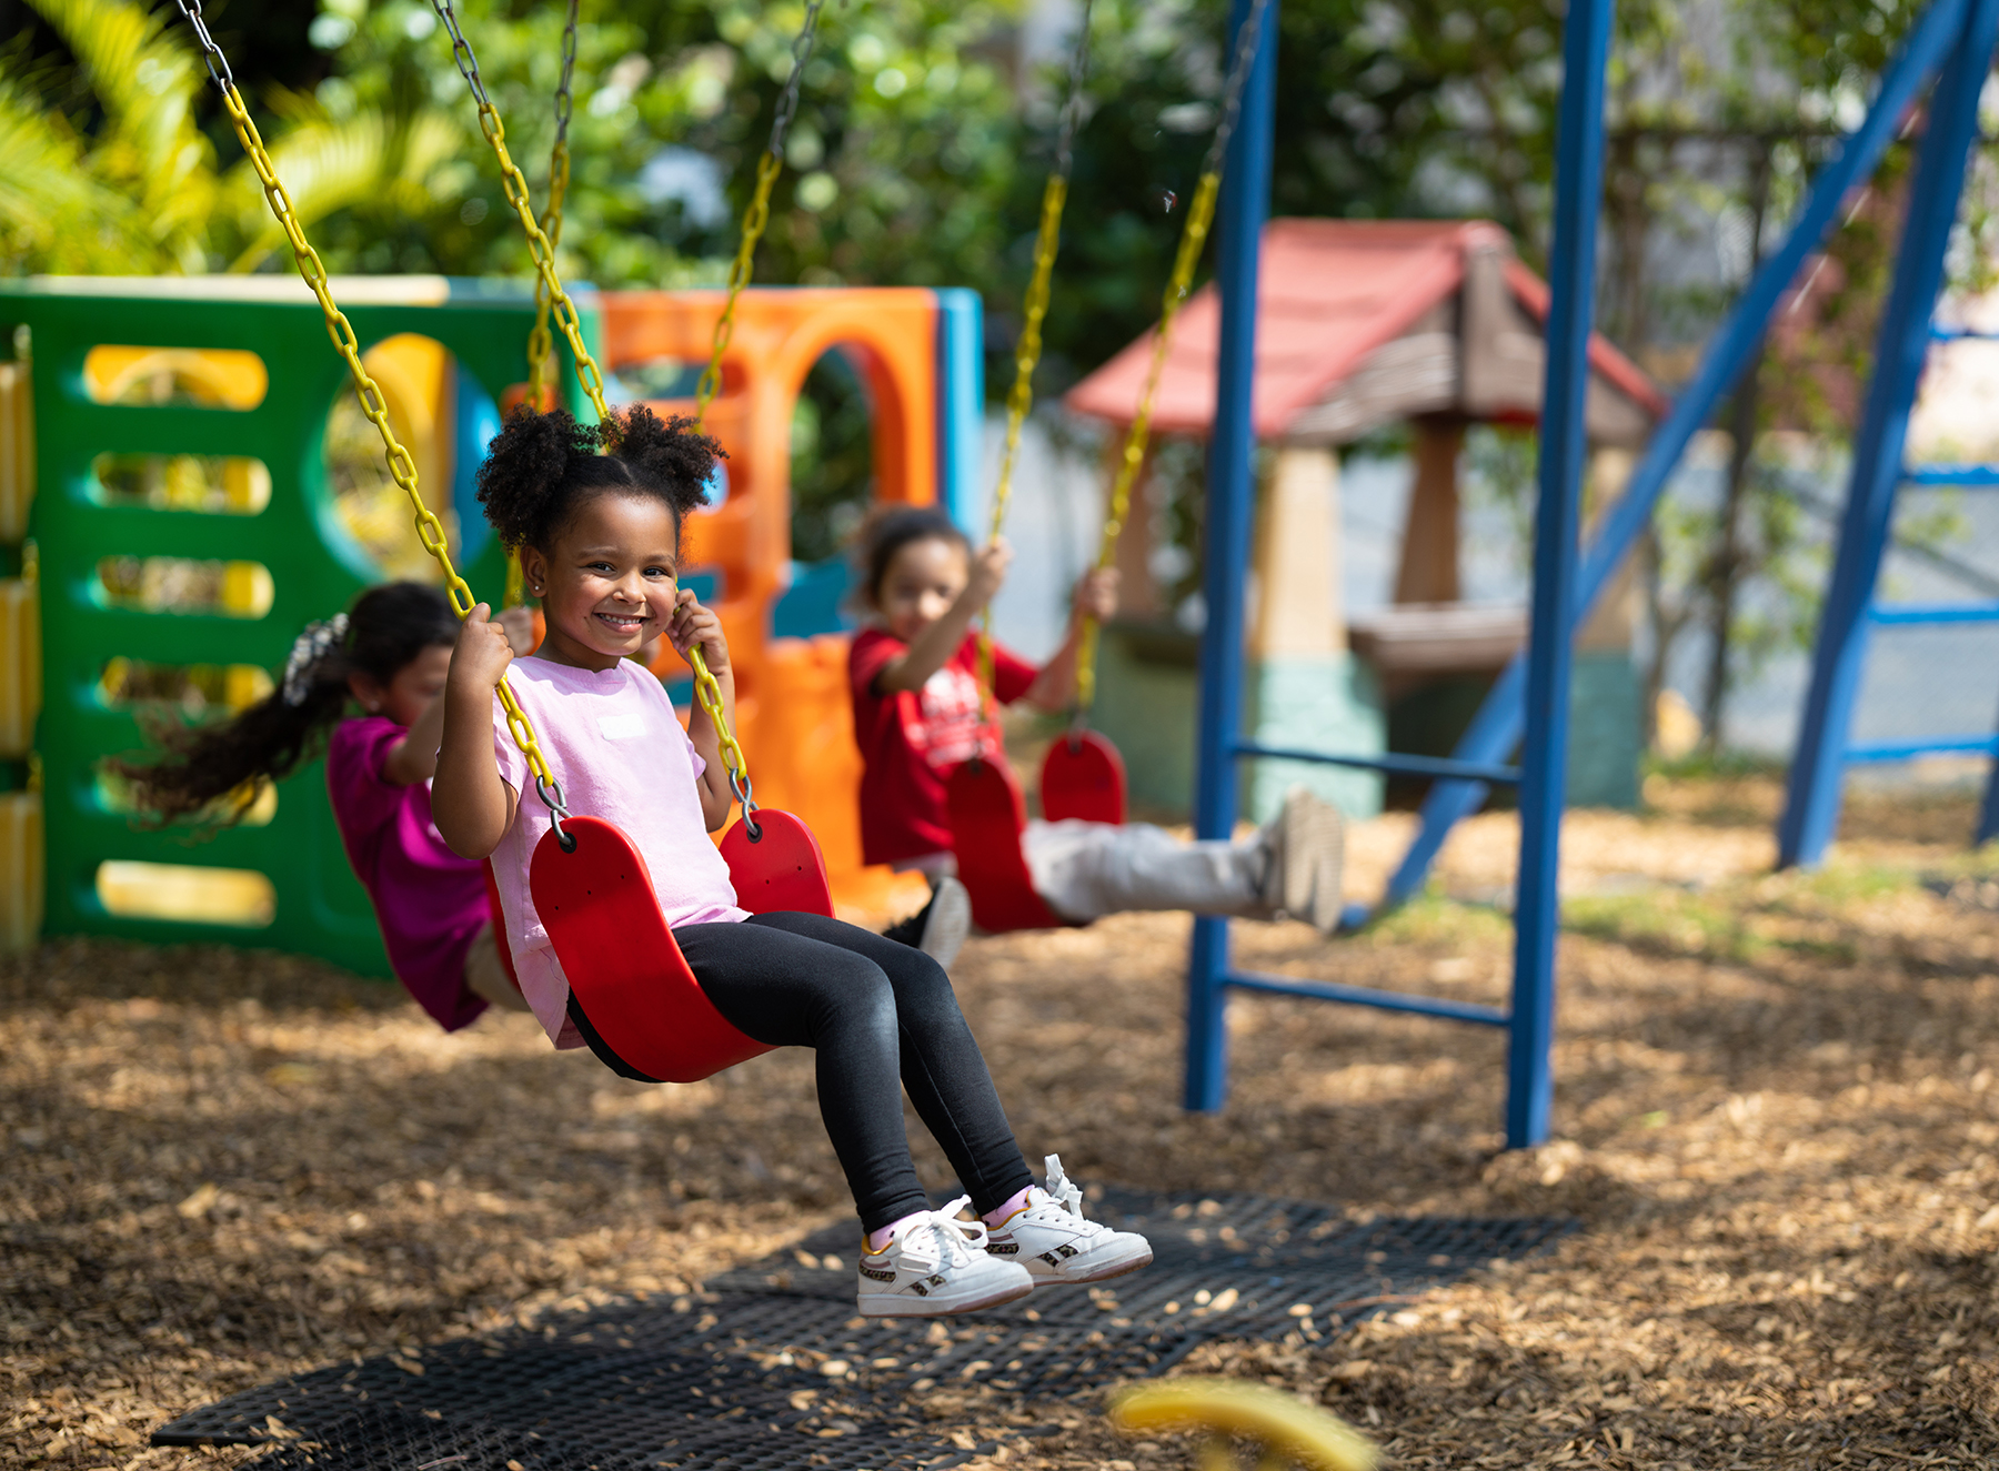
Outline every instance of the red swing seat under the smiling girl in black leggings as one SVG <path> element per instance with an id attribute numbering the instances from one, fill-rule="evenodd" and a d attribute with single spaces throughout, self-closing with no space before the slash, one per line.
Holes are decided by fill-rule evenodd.
<path id="1" fill-rule="evenodd" d="M 834 913 L 812 829 L 788 811 L 756 813 L 758 837 L 738 821 L 722 837 L 736 899 L 752 913 Z M 614 1071 L 648 1083 L 698 1083 L 770 1051 L 716 1011 L 674 943 L 646 859 L 602 817 L 568 817 L 566 853 L 542 833 L 528 887 L 562 973 L 570 1015 Z"/>

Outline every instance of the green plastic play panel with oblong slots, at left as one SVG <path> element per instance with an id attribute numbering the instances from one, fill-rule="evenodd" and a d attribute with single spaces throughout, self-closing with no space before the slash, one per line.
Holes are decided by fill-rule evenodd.
<path id="1" fill-rule="evenodd" d="M 578 306 L 594 332 L 588 300 Z M 528 374 L 534 304 L 522 290 L 386 278 L 356 286 L 354 304 L 342 306 L 364 350 L 402 332 L 434 338 L 496 402 Z M 18 326 L 32 332 L 34 354 L 30 536 L 40 552 L 46 672 L 36 749 L 48 815 L 48 931 L 264 945 L 388 975 L 318 761 L 280 783 L 268 825 L 224 829 L 208 841 L 190 841 L 186 829 L 136 825 L 106 807 L 96 779 L 102 757 L 142 745 L 134 714 L 100 696 L 112 658 L 278 670 L 306 622 L 380 580 L 340 526 L 326 484 L 328 410 L 336 394 L 352 390 L 318 306 L 296 280 L 286 286 L 278 278 L 0 282 L 0 328 Z M 248 350 L 264 360 L 270 388 L 248 412 L 94 404 L 84 358 L 98 344 Z M 92 460 L 104 452 L 254 456 L 270 470 L 270 504 L 254 516 L 102 506 L 92 498 Z M 424 496 L 436 510 L 450 504 L 452 488 L 424 486 Z M 270 570 L 272 606 L 262 618 L 116 608 L 98 584 L 106 556 L 256 562 Z M 502 558 L 492 540 L 464 572 L 476 594 L 498 600 Z M 274 919 L 236 927 L 108 913 L 96 873 L 112 859 L 256 869 L 274 885 Z"/>

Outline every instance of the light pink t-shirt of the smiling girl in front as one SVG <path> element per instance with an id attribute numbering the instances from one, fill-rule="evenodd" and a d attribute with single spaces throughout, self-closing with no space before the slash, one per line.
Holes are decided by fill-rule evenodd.
<path id="1" fill-rule="evenodd" d="M 708 767 L 680 728 L 666 688 L 630 660 L 602 674 L 528 656 L 508 670 L 514 698 L 542 741 L 548 771 L 578 817 L 624 829 L 652 873 L 668 927 L 748 919 L 736 905 L 728 863 L 708 839 L 694 779 Z M 494 881 L 506 911 L 520 993 L 558 1047 L 582 1047 L 570 1023 L 570 981 L 534 911 L 528 865 L 550 827 L 528 761 L 494 700 L 500 777 L 520 793 L 514 823 L 494 849 Z"/>

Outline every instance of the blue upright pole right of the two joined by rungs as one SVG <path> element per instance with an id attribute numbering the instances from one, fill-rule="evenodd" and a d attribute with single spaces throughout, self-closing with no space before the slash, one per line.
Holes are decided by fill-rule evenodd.
<path id="1" fill-rule="evenodd" d="M 1561 38 L 1555 140 L 1555 244 L 1547 262 L 1547 386 L 1541 394 L 1541 492 L 1533 514 L 1533 622 L 1527 634 L 1527 741 L 1519 771 L 1519 897 L 1513 905 L 1513 1025 L 1505 1141 L 1541 1143 L 1555 1095 L 1555 927 L 1561 809 L 1569 771 L 1569 662 L 1579 556 L 1583 394 L 1603 204 L 1603 70 L 1613 0 L 1575 0 Z"/>

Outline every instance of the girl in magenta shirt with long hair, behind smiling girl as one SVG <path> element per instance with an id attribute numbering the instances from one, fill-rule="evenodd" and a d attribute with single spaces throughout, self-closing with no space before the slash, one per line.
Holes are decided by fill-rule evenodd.
<path id="1" fill-rule="evenodd" d="M 528 610 L 502 620 L 522 648 L 532 644 Z M 266 781 L 290 775 L 324 743 L 334 817 L 390 965 L 446 1031 L 488 1003 L 522 1009 L 492 935 L 484 865 L 458 857 L 430 821 L 456 638 L 458 618 L 436 588 L 370 588 L 352 612 L 298 636 L 266 700 L 220 726 L 166 734 L 166 759 L 114 763 L 162 821 L 228 823 L 248 813 Z"/>

